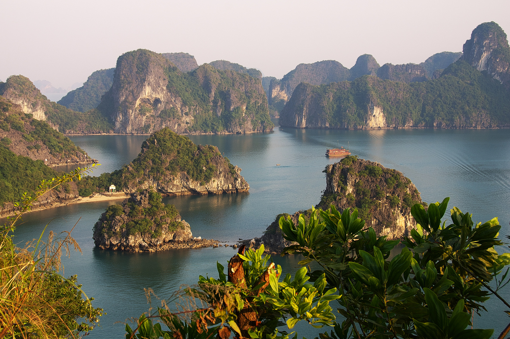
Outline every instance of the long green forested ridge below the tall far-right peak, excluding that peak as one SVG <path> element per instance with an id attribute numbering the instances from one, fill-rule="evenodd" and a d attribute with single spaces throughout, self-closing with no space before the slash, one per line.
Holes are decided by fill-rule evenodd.
<path id="1" fill-rule="evenodd" d="M 365 128 L 373 107 L 382 108 L 381 127 L 510 126 L 510 97 L 504 86 L 465 61 L 448 66 L 439 79 L 422 83 L 365 75 L 352 82 L 301 84 L 282 111 L 280 124 L 294 125 L 303 105 L 312 103 L 320 110 L 307 126 Z"/>

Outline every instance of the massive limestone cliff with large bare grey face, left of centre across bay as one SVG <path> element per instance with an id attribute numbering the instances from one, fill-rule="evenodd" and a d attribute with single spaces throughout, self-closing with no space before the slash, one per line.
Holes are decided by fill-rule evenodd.
<path id="1" fill-rule="evenodd" d="M 138 49 L 117 60 L 111 89 L 98 110 L 116 133 L 271 131 L 260 79 L 204 64 L 183 73 L 160 54 Z"/>

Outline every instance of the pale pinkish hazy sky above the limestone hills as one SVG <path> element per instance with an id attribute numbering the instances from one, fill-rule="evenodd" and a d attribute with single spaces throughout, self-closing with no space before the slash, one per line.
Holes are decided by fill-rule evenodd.
<path id="1" fill-rule="evenodd" d="M 299 63 L 420 63 L 462 51 L 480 23 L 510 32 L 510 1 L 0 0 L 0 80 L 84 82 L 137 48 L 224 59 L 282 77 Z"/>

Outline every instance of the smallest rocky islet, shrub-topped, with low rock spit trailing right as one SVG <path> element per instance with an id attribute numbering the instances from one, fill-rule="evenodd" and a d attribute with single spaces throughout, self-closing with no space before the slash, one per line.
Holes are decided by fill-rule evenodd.
<path id="1" fill-rule="evenodd" d="M 129 252 L 217 244 L 194 241 L 190 225 L 175 206 L 165 205 L 160 194 L 150 191 L 132 193 L 121 204 L 109 206 L 95 223 L 92 238 L 98 248 Z"/>

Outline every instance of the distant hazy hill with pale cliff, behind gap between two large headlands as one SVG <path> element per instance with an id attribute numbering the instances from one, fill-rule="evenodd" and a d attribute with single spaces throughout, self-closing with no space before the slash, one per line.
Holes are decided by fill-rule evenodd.
<path id="1" fill-rule="evenodd" d="M 321 85 L 348 80 L 349 77 L 349 69 L 335 60 L 299 64 L 295 69 L 285 74 L 281 81 L 271 81 L 268 91 L 269 105 L 279 110 L 283 109 L 294 89 L 302 82 Z"/>

